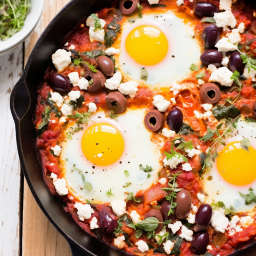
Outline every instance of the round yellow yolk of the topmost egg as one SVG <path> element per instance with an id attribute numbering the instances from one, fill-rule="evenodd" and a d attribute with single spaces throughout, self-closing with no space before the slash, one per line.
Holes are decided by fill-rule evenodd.
<path id="1" fill-rule="evenodd" d="M 166 56 L 168 41 L 165 35 L 153 26 L 140 26 L 127 36 L 126 51 L 136 62 L 145 66 L 156 65 Z"/>

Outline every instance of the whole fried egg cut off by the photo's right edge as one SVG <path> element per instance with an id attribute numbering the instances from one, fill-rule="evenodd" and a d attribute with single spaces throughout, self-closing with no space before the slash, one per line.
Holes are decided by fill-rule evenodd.
<path id="1" fill-rule="evenodd" d="M 243 212 L 256 206 L 253 202 L 245 205 L 245 199 L 238 193 L 249 194 L 250 187 L 256 189 L 256 124 L 240 118 L 237 125 L 224 140 L 226 145 L 218 148 L 220 157 L 206 170 L 203 182 L 209 204 L 223 201 L 226 207 L 232 205 Z M 249 153 L 241 147 L 244 138 L 250 140 Z"/>

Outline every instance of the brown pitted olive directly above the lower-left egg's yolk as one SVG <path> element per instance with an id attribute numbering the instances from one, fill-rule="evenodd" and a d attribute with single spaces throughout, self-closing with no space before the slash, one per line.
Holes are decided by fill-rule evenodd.
<path id="1" fill-rule="evenodd" d="M 106 96 L 106 104 L 110 110 L 114 111 L 116 114 L 120 114 L 126 110 L 127 101 L 123 94 L 116 91 L 110 92 Z"/>

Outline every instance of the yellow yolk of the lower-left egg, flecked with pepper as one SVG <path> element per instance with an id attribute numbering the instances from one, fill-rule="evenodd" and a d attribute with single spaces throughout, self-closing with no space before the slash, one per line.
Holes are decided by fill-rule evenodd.
<path id="1" fill-rule="evenodd" d="M 94 164 L 112 164 L 121 157 L 123 150 L 122 135 L 108 123 L 94 124 L 83 134 L 83 154 Z"/>

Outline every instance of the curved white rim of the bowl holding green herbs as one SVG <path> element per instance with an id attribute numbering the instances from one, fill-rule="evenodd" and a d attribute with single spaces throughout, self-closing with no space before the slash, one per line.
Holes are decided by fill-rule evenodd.
<path id="1" fill-rule="evenodd" d="M 22 44 L 22 42 L 24 42 L 27 39 L 27 37 L 32 33 L 32 31 L 36 27 L 37 23 L 39 22 L 39 19 L 42 15 L 42 11 L 44 10 L 44 6 L 45 6 L 45 0 L 39 0 L 36 8 L 34 8 L 36 10 L 35 11 L 36 15 L 35 15 L 34 22 L 30 23 L 26 30 L 24 30 L 24 28 L 22 30 L 20 30 L 19 32 L 22 32 L 22 33 L 20 33 L 17 38 L 13 39 L 12 37 L 10 37 L 7 40 L 9 44 L 4 46 L 3 48 L 0 46 L 0 55 L 5 54 L 5 53 L 13 50 L 19 44 Z"/>

